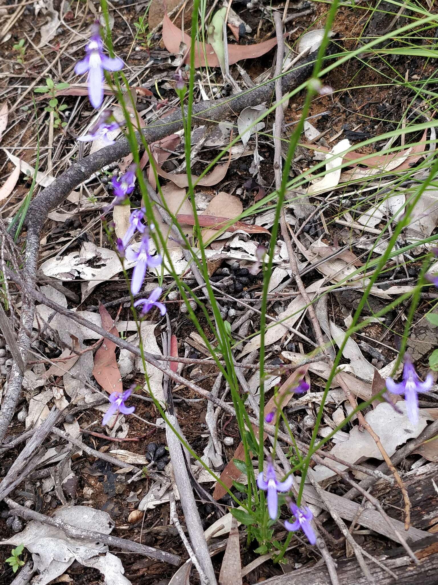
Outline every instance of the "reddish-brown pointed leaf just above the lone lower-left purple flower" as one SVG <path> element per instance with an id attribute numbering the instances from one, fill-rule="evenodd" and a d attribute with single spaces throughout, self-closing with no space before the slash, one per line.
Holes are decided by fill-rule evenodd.
<path id="1" fill-rule="evenodd" d="M 119 332 L 117 327 L 113 325 L 112 316 L 103 305 L 99 305 L 99 313 L 103 329 L 118 337 Z M 93 376 L 108 394 L 123 391 L 115 350 L 116 344 L 109 339 L 104 339 L 94 358 Z"/>

